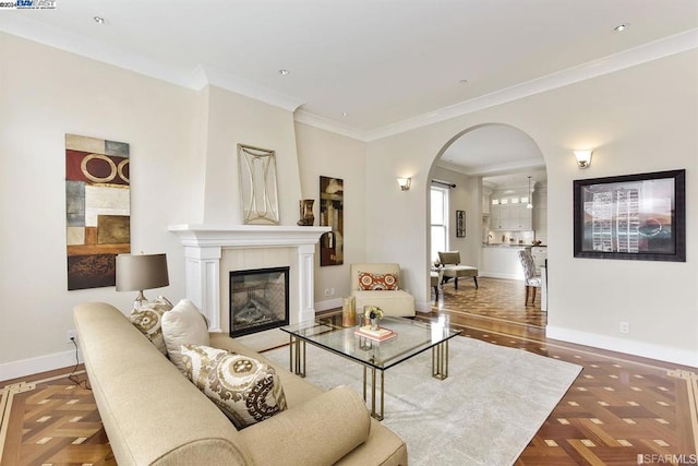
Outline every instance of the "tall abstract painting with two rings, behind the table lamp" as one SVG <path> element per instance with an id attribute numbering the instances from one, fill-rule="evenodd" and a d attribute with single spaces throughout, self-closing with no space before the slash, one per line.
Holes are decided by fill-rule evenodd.
<path id="1" fill-rule="evenodd" d="M 115 256 L 131 251 L 129 144 L 65 134 L 68 289 L 116 283 Z"/>

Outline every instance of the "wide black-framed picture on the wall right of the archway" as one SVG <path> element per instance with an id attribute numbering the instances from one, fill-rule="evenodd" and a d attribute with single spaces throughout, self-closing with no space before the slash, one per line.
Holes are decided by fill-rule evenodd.
<path id="1" fill-rule="evenodd" d="M 686 170 L 574 181 L 575 258 L 686 262 Z"/>

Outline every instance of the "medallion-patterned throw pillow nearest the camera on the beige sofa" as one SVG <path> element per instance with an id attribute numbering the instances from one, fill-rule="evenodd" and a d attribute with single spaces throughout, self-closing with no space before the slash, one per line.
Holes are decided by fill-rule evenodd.
<path id="1" fill-rule="evenodd" d="M 286 409 L 274 368 L 249 356 L 182 345 L 186 377 L 230 418 L 238 430 Z"/>

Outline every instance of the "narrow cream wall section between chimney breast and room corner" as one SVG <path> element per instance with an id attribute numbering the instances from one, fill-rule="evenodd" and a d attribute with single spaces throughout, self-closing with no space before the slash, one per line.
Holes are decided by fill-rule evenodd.
<path id="1" fill-rule="evenodd" d="M 350 296 L 349 265 L 365 262 L 366 258 L 366 147 L 362 142 L 303 123 L 296 123 L 296 140 L 303 199 L 315 200 L 315 226 L 320 225 L 320 177 L 344 179 L 344 264 L 321 267 L 320 254 L 315 254 L 315 309 L 332 309 L 341 306 L 341 297 Z M 395 180 L 393 183 L 399 190 Z M 332 288 L 335 295 L 325 296 L 325 289 Z"/>

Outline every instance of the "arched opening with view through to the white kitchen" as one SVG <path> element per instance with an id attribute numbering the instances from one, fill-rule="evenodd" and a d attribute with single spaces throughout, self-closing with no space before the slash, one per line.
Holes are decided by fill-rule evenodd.
<path id="1" fill-rule="evenodd" d="M 444 285 L 441 299 L 435 301 L 440 309 L 447 308 L 450 299 L 452 307 L 544 326 L 545 297 L 538 289 L 535 301 L 525 302 L 524 270 L 518 259 L 520 250 L 534 251 L 541 265 L 546 251 L 547 177 L 535 142 L 508 124 L 468 128 L 442 147 L 429 179 L 435 193 L 444 189 L 448 192 L 447 215 L 453 223 L 448 227 L 448 249 L 459 251 L 464 264 L 477 266 L 480 284 L 485 285 L 458 290 Z M 437 217 L 432 216 L 431 206 L 428 202 L 426 217 Z M 457 231 L 456 218 L 464 217 L 466 230 Z M 434 225 L 428 230 L 431 250 L 432 230 L 438 230 Z M 538 241 L 542 247 L 533 247 Z M 430 258 L 432 262 L 434 259 Z M 520 300 L 516 300 L 519 292 Z"/>

